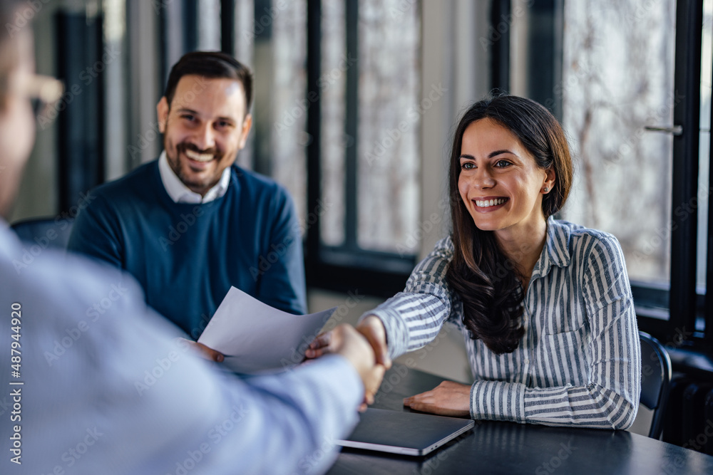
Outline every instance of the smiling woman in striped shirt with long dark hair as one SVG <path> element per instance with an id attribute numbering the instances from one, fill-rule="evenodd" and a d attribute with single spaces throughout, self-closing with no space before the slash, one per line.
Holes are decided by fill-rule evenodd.
<path id="1" fill-rule="evenodd" d="M 629 280 L 614 236 L 553 219 L 572 182 L 557 120 L 515 96 L 475 103 L 456 127 L 449 182 L 451 236 L 358 328 L 388 367 L 450 320 L 475 382 L 445 382 L 404 404 L 473 419 L 630 427 L 641 356 Z M 312 355 L 328 351 L 318 346 Z"/>

